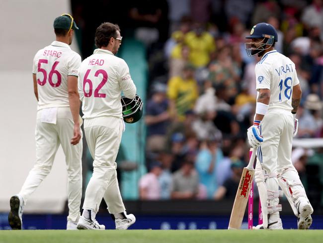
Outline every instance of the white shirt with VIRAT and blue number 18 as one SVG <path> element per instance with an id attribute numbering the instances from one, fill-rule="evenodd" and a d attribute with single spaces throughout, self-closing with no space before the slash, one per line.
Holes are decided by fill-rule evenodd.
<path id="1" fill-rule="evenodd" d="M 267 52 L 255 67 L 256 89 L 270 90 L 270 109 L 293 110 L 293 87 L 300 81 L 295 64 L 283 54 L 272 50 Z M 257 96 L 259 92 L 257 92 Z"/>

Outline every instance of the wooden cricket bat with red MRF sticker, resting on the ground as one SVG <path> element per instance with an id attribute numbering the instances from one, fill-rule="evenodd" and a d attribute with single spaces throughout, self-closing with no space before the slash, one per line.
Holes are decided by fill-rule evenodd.
<path id="1" fill-rule="evenodd" d="M 254 168 L 253 163 L 256 158 L 256 148 L 252 149 L 252 154 L 249 159 L 249 163 L 246 167 L 243 168 L 242 176 L 240 179 L 238 191 L 236 194 L 235 202 L 233 204 L 229 230 L 239 230 L 242 225 L 243 215 L 245 207 L 248 202 L 248 196 L 251 188 L 251 182 L 253 180 Z"/>

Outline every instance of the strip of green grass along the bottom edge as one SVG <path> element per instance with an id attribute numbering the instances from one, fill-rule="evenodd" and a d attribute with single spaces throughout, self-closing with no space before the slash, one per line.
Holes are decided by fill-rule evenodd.
<path id="1" fill-rule="evenodd" d="M 0 231 L 0 243 L 322 243 L 322 230 Z"/>

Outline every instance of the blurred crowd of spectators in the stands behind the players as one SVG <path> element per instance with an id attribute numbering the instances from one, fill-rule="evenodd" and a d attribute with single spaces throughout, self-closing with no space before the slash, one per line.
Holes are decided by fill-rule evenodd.
<path id="1" fill-rule="evenodd" d="M 253 122 L 259 61 L 247 57 L 244 37 L 258 22 L 277 29 L 275 48 L 295 63 L 303 91 L 296 138 L 322 137 L 323 0 L 167 3 L 168 39 L 145 42 L 148 173 L 139 181 L 140 198 L 234 198 L 248 161 L 246 129 Z M 148 40 L 156 29 L 145 31 L 139 38 Z M 322 149 L 298 148 L 292 159 L 307 191 L 311 183 L 319 191 L 309 192 L 310 200 L 323 204 Z"/>

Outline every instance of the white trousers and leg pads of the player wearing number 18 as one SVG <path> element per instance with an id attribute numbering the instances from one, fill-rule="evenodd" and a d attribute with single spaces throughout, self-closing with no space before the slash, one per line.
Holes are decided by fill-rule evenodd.
<path id="1" fill-rule="evenodd" d="M 268 110 L 261 122 L 260 132 L 264 141 L 257 149 L 255 179 L 257 180 L 261 173 L 262 178 L 267 176 L 265 184 L 268 190 L 269 206 L 273 209 L 272 214 L 279 217 L 279 185 L 292 208 L 298 200 L 307 200 L 306 192 L 291 160 L 294 132 L 292 113 L 283 109 Z M 293 193 L 294 195 L 291 195 Z"/>

